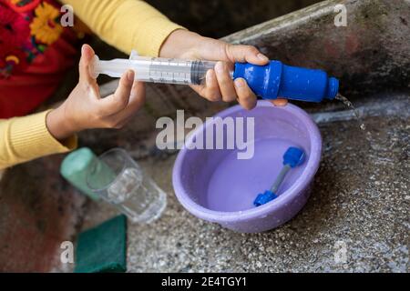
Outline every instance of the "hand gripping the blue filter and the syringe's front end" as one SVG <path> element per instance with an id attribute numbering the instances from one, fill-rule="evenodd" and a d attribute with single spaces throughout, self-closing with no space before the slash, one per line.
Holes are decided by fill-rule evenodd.
<path id="1" fill-rule="evenodd" d="M 186 30 L 176 30 L 169 35 L 162 45 L 159 56 L 182 59 L 201 59 L 220 61 L 215 70 L 208 71 L 206 85 L 191 87 L 201 96 L 210 101 L 238 102 L 246 109 L 256 105 L 256 95 L 251 91 L 246 81 L 231 79 L 230 70 L 235 62 L 248 62 L 253 65 L 266 65 L 268 57 L 251 45 L 230 45 L 220 40 L 203 37 Z M 286 105 L 287 100 L 272 100 L 274 105 Z"/>

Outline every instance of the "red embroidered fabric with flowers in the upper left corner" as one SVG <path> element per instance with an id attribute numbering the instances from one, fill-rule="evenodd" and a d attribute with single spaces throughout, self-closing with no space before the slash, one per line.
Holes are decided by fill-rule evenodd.
<path id="1" fill-rule="evenodd" d="M 54 0 L 0 0 L 0 118 L 26 115 L 62 81 L 77 35 Z"/>

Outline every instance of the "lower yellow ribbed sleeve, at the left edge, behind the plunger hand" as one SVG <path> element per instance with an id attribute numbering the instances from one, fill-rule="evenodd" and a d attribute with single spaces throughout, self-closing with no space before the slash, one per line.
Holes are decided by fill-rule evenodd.
<path id="1" fill-rule="evenodd" d="M 63 145 L 48 132 L 46 115 L 50 111 L 0 120 L 0 170 L 77 147 L 77 136 L 68 138 Z"/>

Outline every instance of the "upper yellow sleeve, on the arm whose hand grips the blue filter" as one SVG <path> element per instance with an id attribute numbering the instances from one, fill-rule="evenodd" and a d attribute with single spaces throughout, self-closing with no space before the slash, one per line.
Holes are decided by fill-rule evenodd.
<path id="1" fill-rule="evenodd" d="M 158 56 L 173 31 L 184 29 L 140 0 L 61 0 L 109 45 L 129 54 Z"/>

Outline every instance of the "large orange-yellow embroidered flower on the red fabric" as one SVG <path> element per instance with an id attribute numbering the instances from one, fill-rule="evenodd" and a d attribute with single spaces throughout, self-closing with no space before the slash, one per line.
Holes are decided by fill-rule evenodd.
<path id="1" fill-rule="evenodd" d="M 38 42 L 53 44 L 63 33 L 63 26 L 59 23 L 60 12 L 53 5 L 43 2 L 36 7 L 35 15 L 30 25 L 31 35 Z"/>

